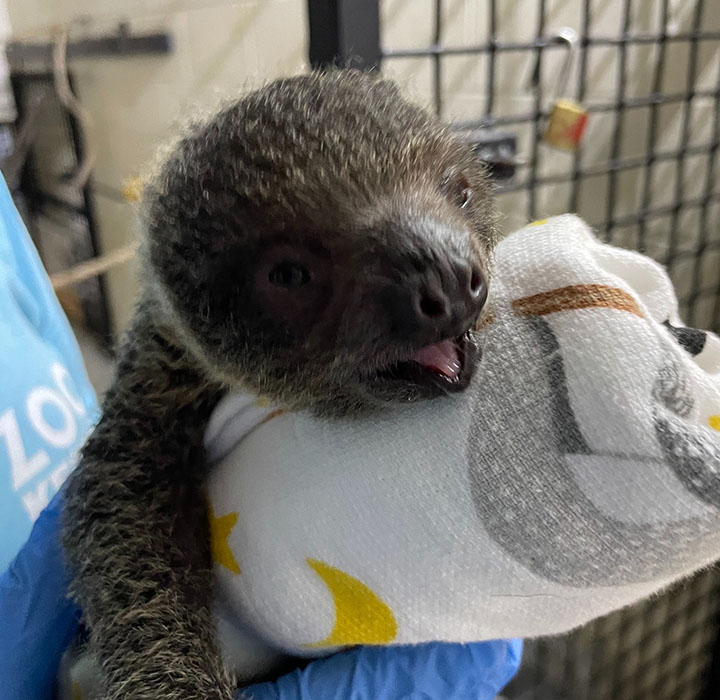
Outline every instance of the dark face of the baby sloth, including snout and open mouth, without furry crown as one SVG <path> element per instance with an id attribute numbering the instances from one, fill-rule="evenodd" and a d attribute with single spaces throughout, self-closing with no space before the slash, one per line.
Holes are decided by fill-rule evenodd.
<path id="1" fill-rule="evenodd" d="M 193 331 L 226 377 L 296 405 L 355 410 L 462 391 L 488 261 L 443 196 L 407 193 L 338 217 L 335 230 L 285 223 L 226 249 Z"/>

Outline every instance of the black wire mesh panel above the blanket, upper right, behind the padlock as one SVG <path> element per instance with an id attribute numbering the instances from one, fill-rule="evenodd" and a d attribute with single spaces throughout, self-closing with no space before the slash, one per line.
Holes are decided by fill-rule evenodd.
<path id="1" fill-rule="evenodd" d="M 382 70 L 443 118 L 507 131 L 521 164 L 504 228 L 576 211 L 668 266 L 691 325 L 720 325 L 720 3 L 382 0 Z M 576 57 L 556 93 L 567 50 Z M 554 100 L 588 111 L 575 152 L 543 141 Z"/>

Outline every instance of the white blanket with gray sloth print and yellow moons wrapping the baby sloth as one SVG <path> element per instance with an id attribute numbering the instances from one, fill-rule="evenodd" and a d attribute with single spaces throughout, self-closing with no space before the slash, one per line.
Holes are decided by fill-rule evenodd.
<path id="1" fill-rule="evenodd" d="M 720 557 L 720 342 L 682 326 L 663 269 L 560 216 L 501 243 L 490 309 L 462 395 L 218 408 L 221 627 L 258 653 L 238 667 L 564 632 Z"/>

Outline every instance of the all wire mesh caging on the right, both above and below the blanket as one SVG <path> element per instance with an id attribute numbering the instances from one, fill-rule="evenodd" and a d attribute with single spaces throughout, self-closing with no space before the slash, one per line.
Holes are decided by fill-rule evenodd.
<path id="1" fill-rule="evenodd" d="M 720 329 L 720 2 L 380 0 L 378 13 L 363 20 L 379 37 L 370 63 L 444 119 L 517 143 L 498 190 L 505 231 L 575 211 L 666 265 L 689 325 Z M 576 150 L 543 138 L 558 98 L 588 113 Z M 720 574 L 706 571 L 528 643 L 505 697 L 720 698 L 719 613 Z"/>

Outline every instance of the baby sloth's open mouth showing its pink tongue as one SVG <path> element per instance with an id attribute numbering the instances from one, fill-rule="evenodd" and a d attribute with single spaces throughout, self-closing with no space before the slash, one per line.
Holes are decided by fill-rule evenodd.
<path id="1" fill-rule="evenodd" d="M 380 370 L 377 377 L 381 381 L 400 381 L 445 393 L 463 391 L 472 379 L 479 356 L 480 348 L 468 330 L 457 338 L 419 348 L 406 360 Z"/>

